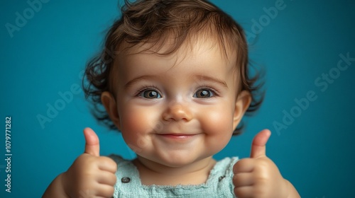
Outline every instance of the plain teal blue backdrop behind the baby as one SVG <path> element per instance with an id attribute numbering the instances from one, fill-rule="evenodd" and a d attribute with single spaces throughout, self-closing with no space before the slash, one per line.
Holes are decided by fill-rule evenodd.
<path id="1" fill-rule="evenodd" d="M 99 135 L 102 155 L 134 157 L 119 133 L 90 115 L 81 90 L 44 127 L 37 119 L 46 116 L 48 105 L 60 103 L 60 93 L 80 86 L 84 65 L 99 52 L 105 30 L 119 16 L 117 1 L 41 3 L 11 37 L 6 23 L 16 24 L 16 12 L 31 16 L 28 2 L 33 1 L 0 1 L 0 197 L 40 197 L 83 152 L 84 127 Z M 321 80 L 317 86 L 315 81 L 336 72 L 339 54 L 355 57 L 355 1 L 285 0 L 273 18 L 265 9 L 276 0 L 213 2 L 256 33 L 256 40 L 249 34 L 250 55 L 266 68 L 267 88 L 246 132 L 231 139 L 216 158 L 248 157 L 253 136 L 268 128 L 273 135 L 267 154 L 302 197 L 354 197 L 355 62 L 332 83 Z M 259 19 L 264 20 L 262 30 L 256 31 Z M 295 99 L 309 91 L 317 99 L 285 124 L 285 112 L 297 111 Z M 11 193 L 4 186 L 6 116 L 11 116 Z M 275 129 L 275 122 L 287 129 Z"/>

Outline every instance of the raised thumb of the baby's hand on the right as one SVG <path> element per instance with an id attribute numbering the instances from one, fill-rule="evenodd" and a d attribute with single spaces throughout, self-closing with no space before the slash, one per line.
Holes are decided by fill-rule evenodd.
<path id="1" fill-rule="evenodd" d="M 254 136 L 253 143 L 251 144 L 251 158 L 266 156 L 266 142 L 268 142 L 270 136 L 271 132 L 268 129 L 263 129 Z"/>

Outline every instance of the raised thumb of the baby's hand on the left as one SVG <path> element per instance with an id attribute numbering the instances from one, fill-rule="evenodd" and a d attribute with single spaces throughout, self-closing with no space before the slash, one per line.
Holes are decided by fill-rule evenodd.
<path id="1" fill-rule="evenodd" d="M 84 129 L 85 136 L 85 151 L 84 153 L 90 154 L 92 156 L 100 156 L 100 144 L 99 137 L 95 132 L 89 127 Z"/>

